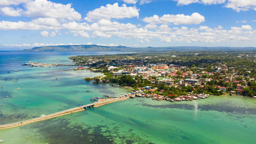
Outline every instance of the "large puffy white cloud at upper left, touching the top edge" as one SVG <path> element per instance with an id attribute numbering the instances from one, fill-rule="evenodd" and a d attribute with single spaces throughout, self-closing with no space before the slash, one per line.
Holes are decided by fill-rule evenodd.
<path id="1" fill-rule="evenodd" d="M 81 14 L 71 8 L 71 4 L 63 5 L 47 0 L 35 0 L 25 5 L 24 15 L 29 17 L 54 17 L 69 20 L 80 20 Z"/>

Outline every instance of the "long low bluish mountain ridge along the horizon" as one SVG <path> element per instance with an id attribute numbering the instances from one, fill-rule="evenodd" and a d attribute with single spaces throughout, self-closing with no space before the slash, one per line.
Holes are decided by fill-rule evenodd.
<path id="1" fill-rule="evenodd" d="M 132 48 L 125 46 L 98 46 L 98 45 L 63 45 L 63 46 L 44 46 L 26 49 L 23 51 L 124 51 L 124 52 L 165 52 L 165 51 L 211 51 L 211 50 L 256 50 L 254 47 L 233 48 L 233 47 L 146 47 Z"/>

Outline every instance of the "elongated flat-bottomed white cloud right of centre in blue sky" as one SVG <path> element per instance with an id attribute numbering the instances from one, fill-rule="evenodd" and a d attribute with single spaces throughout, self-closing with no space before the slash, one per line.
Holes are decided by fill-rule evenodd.
<path id="1" fill-rule="evenodd" d="M 175 25 L 191 25 L 191 24 L 200 24 L 204 22 L 204 16 L 195 12 L 191 15 L 184 15 L 184 14 L 164 14 L 163 16 L 159 17 L 158 15 L 154 15 L 151 17 L 143 18 L 144 22 L 146 23 L 153 23 L 153 24 L 175 24 Z"/>

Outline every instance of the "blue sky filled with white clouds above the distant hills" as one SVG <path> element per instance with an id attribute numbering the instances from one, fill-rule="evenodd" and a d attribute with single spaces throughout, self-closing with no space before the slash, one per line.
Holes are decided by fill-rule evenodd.
<path id="1" fill-rule="evenodd" d="M 256 0 L 0 0 L 0 50 L 254 47 Z"/>

